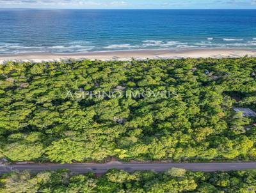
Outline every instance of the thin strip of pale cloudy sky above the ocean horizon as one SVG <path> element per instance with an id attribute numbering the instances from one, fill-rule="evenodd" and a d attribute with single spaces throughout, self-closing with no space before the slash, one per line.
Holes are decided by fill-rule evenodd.
<path id="1" fill-rule="evenodd" d="M 256 8 L 256 0 L 0 0 L 0 8 Z"/>

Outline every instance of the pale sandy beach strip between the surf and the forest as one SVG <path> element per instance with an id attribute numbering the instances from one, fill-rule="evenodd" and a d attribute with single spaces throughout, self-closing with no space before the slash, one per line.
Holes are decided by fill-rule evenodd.
<path id="1" fill-rule="evenodd" d="M 177 58 L 240 58 L 243 56 L 256 57 L 256 49 L 193 49 L 193 50 L 122 50 L 109 52 L 85 53 L 26 53 L 0 55 L 0 63 L 6 61 L 61 61 L 67 59 L 117 60 L 133 59 L 177 59 Z"/>

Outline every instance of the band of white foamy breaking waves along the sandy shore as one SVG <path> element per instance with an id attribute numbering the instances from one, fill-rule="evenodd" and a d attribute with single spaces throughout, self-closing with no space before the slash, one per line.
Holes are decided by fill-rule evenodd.
<path id="1" fill-rule="evenodd" d="M 105 44 L 105 45 L 104 45 Z M 20 43 L 0 43 L 0 54 L 19 54 L 27 52 L 97 52 L 111 50 L 141 50 L 141 49 L 216 49 L 216 48 L 241 48 L 256 49 L 256 38 L 248 40 L 238 38 L 207 38 L 207 40 L 182 42 L 177 40 L 139 40 L 138 42 L 113 43 L 105 42 L 65 42 L 62 45 L 22 45 Z"/>

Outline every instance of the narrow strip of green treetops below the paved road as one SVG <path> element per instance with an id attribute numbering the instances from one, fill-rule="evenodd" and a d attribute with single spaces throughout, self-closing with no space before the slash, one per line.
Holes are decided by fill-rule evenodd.
<path id="1" fill-rule="evenodd" d="M 0 193 L 253 193 L 256 171 L 202 173 L 172 168 L 162 174 L 153 171 L 127 173 L 112 169 L 103 176 L 93 173 L 44 171 L 13 172 L 0 178 Z"/>

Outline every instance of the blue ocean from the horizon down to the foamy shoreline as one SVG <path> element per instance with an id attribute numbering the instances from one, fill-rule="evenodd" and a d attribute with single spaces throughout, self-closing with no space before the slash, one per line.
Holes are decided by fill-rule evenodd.
<path id="1" fill-rule="evenodd" d="M 256 48 L 256 10 L 0 10 L 0 54 Z"/>

